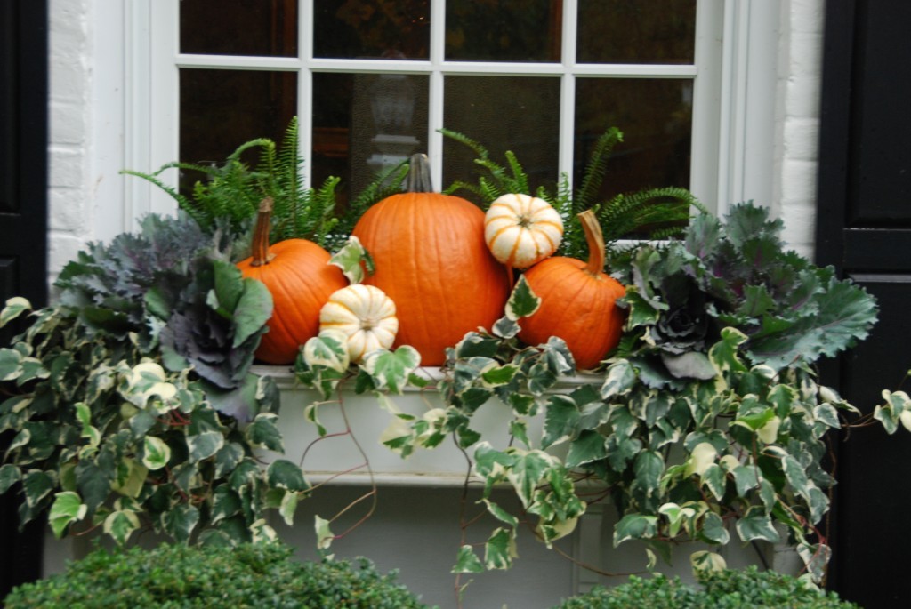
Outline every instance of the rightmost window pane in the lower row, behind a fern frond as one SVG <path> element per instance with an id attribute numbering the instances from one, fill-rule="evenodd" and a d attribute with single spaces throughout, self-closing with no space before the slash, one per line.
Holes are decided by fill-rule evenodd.
<path id="1" fill-rule="evenodd" d="M 580 78 L 576 85 L 573 183 L 608 127 L 623 132 L 601 187 L 603 198 L 642 188 L 690 187 L 692 81 Z"/>

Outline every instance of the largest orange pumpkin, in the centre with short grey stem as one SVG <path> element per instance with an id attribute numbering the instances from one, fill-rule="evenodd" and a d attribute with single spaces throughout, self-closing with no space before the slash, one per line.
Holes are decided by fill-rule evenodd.
<path id="1" fill-rule="evenodd" d="M 484 240 L 484 212 L 464 198 L 432 191 L 427 157 L 411 159 L 406 192 L 369 208 L 353 229 L 374 258 L 364 283 L 395 302 L 396 345 L 411 345 L 426 366 L 466 332 L 487 330 L 509 297 L 507 270 Z"/>

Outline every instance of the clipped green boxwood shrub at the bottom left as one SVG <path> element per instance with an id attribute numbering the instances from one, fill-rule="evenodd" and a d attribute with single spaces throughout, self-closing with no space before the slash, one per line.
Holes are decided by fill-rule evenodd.
<path id="1" fill-rule="evenodd" d="M 162 544 L 108 553 L 98 549 L 60 573 L 18 586 L 7 609 L 210 607 L 230 609 L 417 609 L 395 573 L 370 561 L 302 563 L 281 543 L 237 547 Z"/>

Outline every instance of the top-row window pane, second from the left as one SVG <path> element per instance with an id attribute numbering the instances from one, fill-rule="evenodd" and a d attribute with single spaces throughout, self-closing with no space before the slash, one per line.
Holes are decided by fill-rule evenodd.
<path id="1" fill-rule="evenodd" d="M 430 0 L 317 0 L 313 56 L 426 59 Z"/>

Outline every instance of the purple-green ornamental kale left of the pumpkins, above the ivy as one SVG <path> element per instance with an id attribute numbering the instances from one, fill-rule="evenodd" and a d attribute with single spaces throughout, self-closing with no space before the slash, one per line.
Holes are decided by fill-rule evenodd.
<path id="1" fill-rule="evenodd" d="M 192 367 L 215 407 L 247 420 L 257 385 L 253 352 L 271 316 L 271 295 L 230 263 L 230 241 L 204 234 L 191 218 L 148 216 L 138 234 L 91 244 L 57 280 L 61 303 L 90 334 Z M 277 392 L 270 391 L 277 400 Z"/>

